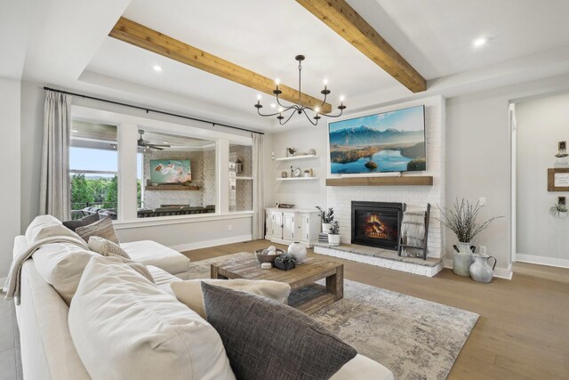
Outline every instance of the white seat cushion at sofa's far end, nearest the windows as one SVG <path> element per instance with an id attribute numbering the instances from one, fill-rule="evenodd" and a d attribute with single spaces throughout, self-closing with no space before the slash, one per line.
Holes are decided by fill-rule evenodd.
<path id="1" fill-rule="evenodd" d="M 133 241 L 123 243 L 121 247 L 136 262 L 154 265 L 171 274 L 188 273 L 190 263 L 188 257 L 156 241 Z"/>

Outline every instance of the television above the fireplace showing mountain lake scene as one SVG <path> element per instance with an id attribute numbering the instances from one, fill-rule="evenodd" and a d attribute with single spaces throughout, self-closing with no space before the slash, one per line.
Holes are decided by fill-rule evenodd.
<path id="1" fill-rule="evenodd" d="M 425 106 L 328 124 L 331 174 L 427 169 Z"/>

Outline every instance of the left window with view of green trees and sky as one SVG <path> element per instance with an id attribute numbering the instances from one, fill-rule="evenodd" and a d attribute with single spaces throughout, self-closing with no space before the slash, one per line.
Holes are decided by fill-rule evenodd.
<path id="1" fill-rule="evenodd" d="M 108 214 L 118 210 L 117 127 L 73 119 L 69 148 L 71 215 Z"/>

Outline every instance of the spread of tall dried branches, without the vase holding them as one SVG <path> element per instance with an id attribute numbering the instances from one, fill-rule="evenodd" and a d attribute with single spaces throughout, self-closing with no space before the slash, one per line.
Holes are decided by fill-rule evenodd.
<path id="1" fill-rule="evenodd" d="M 503 215 L 494 216 L 485 222 L 477 222 L 482 207 L 479 202 L 475 205 L 465 199 L 461 199 L 459 202 L 459 199 L 456 198 L 454 205 L 450 208 L 438 206 L 443 216 L 440 222 L 452 230 L 460 242 L 469 243 L 495 219 L 503 218 Z"/>

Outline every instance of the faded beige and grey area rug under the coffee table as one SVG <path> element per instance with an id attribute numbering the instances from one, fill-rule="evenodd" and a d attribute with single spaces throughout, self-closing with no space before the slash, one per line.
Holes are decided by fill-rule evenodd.
<path id="1" fill-rule="evenodd" d="M 209 278 L 211 263 L 240 255 L 250 254 L 192 263 L 190 278 Z M 349 279 L 344 298 L 312 317 L 405 380 L 445 379 L 478 319 L 474 312 Z"/>

